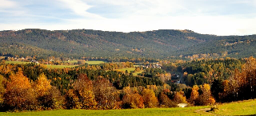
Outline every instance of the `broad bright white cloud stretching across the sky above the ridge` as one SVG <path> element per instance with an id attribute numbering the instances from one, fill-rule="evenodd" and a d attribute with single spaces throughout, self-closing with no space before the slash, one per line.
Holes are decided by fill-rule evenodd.
<path id="1" fill-rule="evenodd" d="M 80 17 L 69 17 L 69 19 L 62 19 L 62 17 L 45 16 L 37 14 L 26 14 L 26 18 L 31 18 L 31 21 L 19 22 L 17 21 L 2 23 L 0 29 L 97 29 L 106 31 L 148 31 L 156 29 L 190 29 L 196 33 L 208 33 L 217 35 L 246 35 L 256 33 L 256 14 L 221 14 L 217 13 L 218 6 L 206 4 L 203 0 L 57 0 L 52 6 L 70 10 L 73 14 Z M 7 0 L 0 0 L 0 2 L 10 2 Z M 218 1 L 217 4 L 219 4 Z M 230 2 L 237 4 L 239 1 L 229 1 L 228 5 L 232 6 Z M 223 6 L 226 6 L 223 2 Z M 247 3 L 250 2 L 250 3 Z M 256 0 L 245 0 L 243 4 L 250 5 Z M 14 12 L 20 10 L 15 9 L 18 4 L 10 2 L 8 8 L 13 8 Z M 33 2 L 30 3 L 33 5 Z M 0 5 L 1 6 L 1 5 Z M 123 14 L 122 17 L 107 18 L 94 12 L 97 9 L 105 10 L 108 7 L 115 7 L 114 10 L 120 10 L 118 13 L 104 14 Z M 108 6 L 108 7 L 105 7 Z M 25 7 L 25 6 L 24 6 Z M 254 8 L 254 7 L 252 7 Z M 30 10 L 26 7 L 26 9 Z M 106 9 L 107 10 L 107 9 Z M 255 9 L 253 9 L 255 10 Z M 214 15 L 209 12 L 216 13 Z M 43 12 L 43 11 L 42 11 Z M 111 11 L 110 11 L 111 12 Z M 236 13 L 236 11 L 233 11 Z M 70 12 L 69 12 L 70 13 Z M 56 13 L 58 14 L 58 13 Z M 69 15 L 69 14 L 66 14 Z M 34 17 L 44 18 L 46 20 L 56 20 L 56 23 L 47 21 L 36 22 Z M 23 19 L 26 19 L 22 17 Z M 1 19 L 1 17 L 0 17 Z M 62 20 L 62 22 L 58 22 Z"/>

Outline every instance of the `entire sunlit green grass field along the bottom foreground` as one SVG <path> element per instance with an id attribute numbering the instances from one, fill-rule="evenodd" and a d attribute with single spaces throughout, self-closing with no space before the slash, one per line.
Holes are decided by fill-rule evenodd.
<path id="1" fill-rule="evenodd" d="M 197 116 L 210 115 L 206 112 L 196 110 L 204 109 L 210 106 L 192 106 L 185 108 L 145 108 L 145 109 L 126 109 L 126 110 L 43 110 L 43 111 L 26 111 L 26 112 L 0 112 L 0 116 L 81 116 L 81 115 L 122 115 L 122 116 Z M 199 114 L 200 113 L 200 114 Z M 210 112 L 218 115 L 253 115 L 256 114 L 256 100 L 246 100 L 243 102 L 231 102 L 218 105 L 218 110 Z"/>

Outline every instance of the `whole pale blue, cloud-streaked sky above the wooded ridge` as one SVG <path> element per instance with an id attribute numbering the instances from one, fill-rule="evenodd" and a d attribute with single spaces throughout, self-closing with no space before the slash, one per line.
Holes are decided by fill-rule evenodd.
<path id="1" fill-rule="evenodd" d="M 256 34 L 256 0 L 0 0 L 0 30 Z"/>

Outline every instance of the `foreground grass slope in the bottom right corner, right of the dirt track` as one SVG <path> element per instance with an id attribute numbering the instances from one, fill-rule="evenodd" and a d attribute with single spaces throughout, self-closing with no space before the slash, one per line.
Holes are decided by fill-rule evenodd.
<path id="1" fill-rule="evenodd" d="M 256 99 L 242 102 L 230 102 L 218 105 L 214 114 L 225 115 L 251 115 L 256 114 Z"/>

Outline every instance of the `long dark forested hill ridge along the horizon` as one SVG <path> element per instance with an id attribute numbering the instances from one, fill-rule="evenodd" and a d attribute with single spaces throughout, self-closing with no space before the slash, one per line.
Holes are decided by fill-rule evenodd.
<path id="1" fill-rule="evenodd" d="M 106 32 L 23 29 L 0 32 L 0 56 L 197 58 L 256 56 L 256 35 L 218 37 L 190 30 Z"/>

